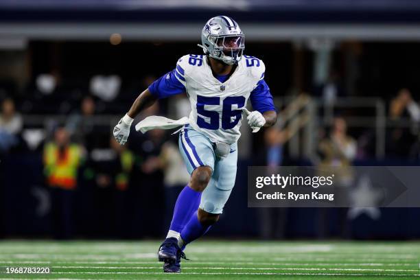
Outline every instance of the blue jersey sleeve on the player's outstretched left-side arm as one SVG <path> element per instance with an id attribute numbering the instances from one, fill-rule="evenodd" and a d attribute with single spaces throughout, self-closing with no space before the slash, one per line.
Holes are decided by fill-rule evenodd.
<path id="1" fill-rule="evenodd" d="M 159 99 L 185 93 L 185 78 L 178 68 L 180 68 L 179 65 L 177 65 L 176 69 L 173 71 L 166 73 L 161 78 L 150 84 L 150 93 Z"/>

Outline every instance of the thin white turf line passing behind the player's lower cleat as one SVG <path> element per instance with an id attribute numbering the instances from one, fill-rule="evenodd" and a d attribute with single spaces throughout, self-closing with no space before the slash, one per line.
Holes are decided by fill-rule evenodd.
<path id="1" fill-rule="evenodd" d="M 161 269 L 161 266 L 51 266 L 51 268 L 93 268 L 93 269 Z M 191 270 L 332 270 L 332 271 L 383 271 L 383 272 L 419 272 L 418 269 L 381 269 L 381 268 L 231 268 L 231 267 L 183 267 Z"/>

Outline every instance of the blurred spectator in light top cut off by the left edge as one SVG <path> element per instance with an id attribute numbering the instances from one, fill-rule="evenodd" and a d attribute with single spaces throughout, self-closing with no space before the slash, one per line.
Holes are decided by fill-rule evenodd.
<path id="1" fill-rule="evenodd" d="M 3 100 L 0 115 L 0 152 L 7 151 L 19 142 L 18 135 L 21 133 L 23 120 L 16 113 L 14 102 L 10 98 Z"/>

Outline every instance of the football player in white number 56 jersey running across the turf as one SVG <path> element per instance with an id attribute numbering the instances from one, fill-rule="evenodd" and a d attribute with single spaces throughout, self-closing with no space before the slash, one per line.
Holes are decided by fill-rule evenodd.
<path id="1" fill-rule="evenodd" d="M 179 150 L 191 178 L 180 192 L 169 232 L 159 248 L 165 272 L 180 272 L 187 244 L 218 221 L 235 185 L 237 140 L 243 111 L 253 131 L 272 126 L 277 113 L 264 81 L 264 62 L 243 54 L 244 34 L 229 16 L 207 21 L 201 34 L 204 55 L 181 57 L 176 68 L 153 82 L 114 128 L 124 145 L 133 119 L 156 100 L 187 93 L 189 124 L 179 135 Z M 246 110 L 250 100 L 253 111 Z"/>

